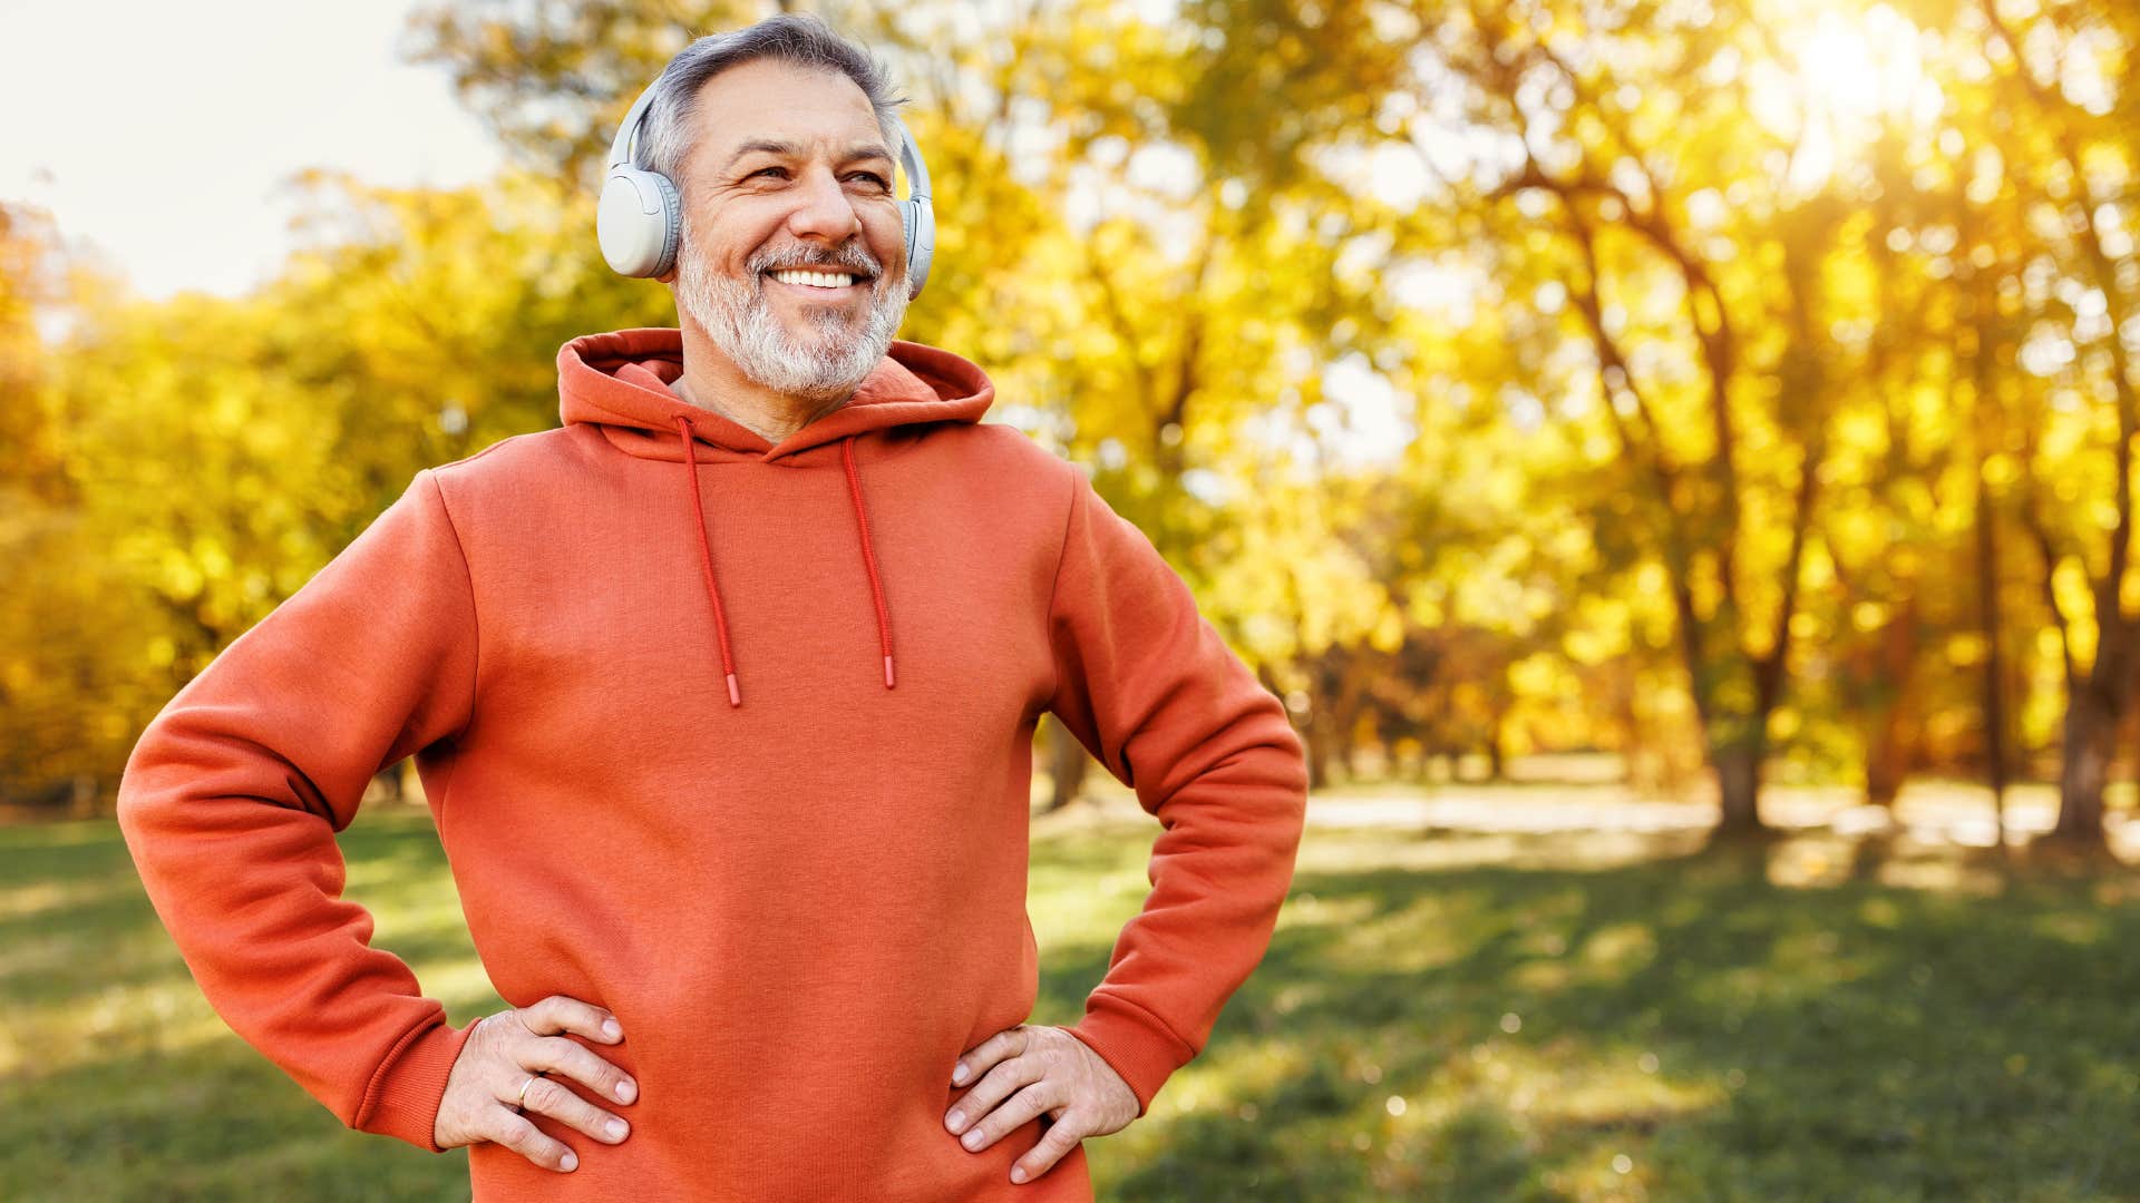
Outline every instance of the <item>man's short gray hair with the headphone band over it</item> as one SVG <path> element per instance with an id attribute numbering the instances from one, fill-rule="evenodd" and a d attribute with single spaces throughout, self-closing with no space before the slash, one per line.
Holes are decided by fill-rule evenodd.
<path id="1" fill-rule="evenodd" d="M 683 161 L 698 139 L 691 122 L 698 109 L 698 90 L 721 71 L 755 58 L 779 58 L 854 79 L 862 96 L 869 96 L 869 107 L 877 111 L 877 133 L 884 135 L 886 150 L 892 152 L 892 158 L 899 156 L 892 118 L 895 109 L 907 101 L 892 94 L 884 64 L 832 32 L 832 26 L 820 17 L 781 13 L 734 32 L 706 34 L 670 60 L 661 77 L 655 79 L 655 98 L 646 105 L 646 124 L 631 150 L 633 167 L 668 176 L 683 193 Z"/>

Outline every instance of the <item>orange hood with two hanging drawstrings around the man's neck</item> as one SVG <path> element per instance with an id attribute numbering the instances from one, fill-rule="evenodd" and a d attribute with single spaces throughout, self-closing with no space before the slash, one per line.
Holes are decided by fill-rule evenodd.
<path id="1" fill-rule="evenodd" d="M 706 584 L 706 608 L 721 649 L 728 704 L 740 706 L 743 689 L 730 651 L 713 544 L 706 539 L 706 499 L 698 465 L 751 458 L 779 467 L 802 467 L 802 460 L 815 458 L 805 456 L 805 452 L 828 443 L 839 443 L 847 499 L 854 503 L 856 554 L 862 557 L 862 567 L 869 574 L 869 593 L 877 616 L 884 687 L 892 689 L 897 685 L 892 612 L 884 599 L 877 550 L 869 539 L 869 512 L 862 505 L 862 471 L 854 443 L 862 435 L 897 426 L 980 422 L 980 415 L 995 400 L 995 385 L 976 364 L 950 351 L 895 338 L 884 360 L 862 379 L 845 405 L 779 443 L 770 443 L 749 426 L 700 409 L 670 392 L 668 385 L 681 375 L 683 330 L 638 328 L 586 334 L 565 342 L 556 353 L 559 415 L 567 426 L 576 422 L 595 426 L 610 445 L 629 456 L 678 465 L 678 505 L 689 505 L 691 531 L 698 535 L 700 580 Z M 719 501 L 715 503 L 719 505 Z"/>

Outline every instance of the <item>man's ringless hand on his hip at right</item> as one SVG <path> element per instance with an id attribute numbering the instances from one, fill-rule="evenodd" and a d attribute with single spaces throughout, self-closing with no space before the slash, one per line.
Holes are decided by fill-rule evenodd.
<path id="1" fill-rule="evenodd" d="M 1040 1143 L 1010 1167 L 1010 1182 L 1040 1177 L 1085 1137 L 1119 1132 L 1141 1111 L 1115 1066 L 1061 1027 L 1019 1023 L 989 1036 L 952 1068 L 952 1083 L 965 1081 L 974 1090 L 952 1102 L 944 1126 L 967 1132 L 959 1141 L 967 1152 L 993 1145 L 1036 1115 L 1053 1120 Z"/>

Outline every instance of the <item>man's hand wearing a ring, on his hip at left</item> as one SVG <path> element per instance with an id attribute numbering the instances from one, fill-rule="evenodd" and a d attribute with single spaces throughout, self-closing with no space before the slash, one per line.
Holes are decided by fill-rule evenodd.
<path id="1" fill-rule="evenodd" d="M 445 1075 L 445 1098 L 439 1100 L 439 1122 L 432 1126 L 439 1147 L 496 1141 L 544 1169 L 569 1173 L 578 1167 L 580 1158 L 563 1141 L 552 1141 L 533 1120 L 514 1111 L 520 1105 L 520 1085 L 531 1075 L 535 1081 L 526 1087 L 526 1111 L 571 1124 L 610 1145 L 623 1143 L 629 1126 L 621 1117 L 541 1075 L 567 1075 L 591 1085 L 601 1098 L 623 1102 L 638 1098 L 638 1083 L 593 1049 L 567 1040 L 563 1032 L 606 1045 L 625 1038 L 614 1015 L 561 993 L 477 1019 L 475 1032 L 469 1032 L 454 1068 Z"/>

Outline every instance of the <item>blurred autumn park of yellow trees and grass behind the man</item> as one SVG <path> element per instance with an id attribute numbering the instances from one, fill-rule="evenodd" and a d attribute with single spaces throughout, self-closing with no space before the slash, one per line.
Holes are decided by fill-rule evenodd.
<path id="1" fill-rule="evenodd" d="M 561 342 L 674 325 L 599 259 L 603 154 L 777 9 L 413 4 L 501 169 L 295 171 L 231 295 L 0 195 L 4 1194 L 464 1194 L 220 1025 L 118 775 L 417 469 L 554 426 Z M 912 98 L 901 336 L 1094 473 L 1310 753 L 1271 955 L 1089 1143 L 1102 1197 L 2140 1197 L 2140 9 L 792 9 Z M 1158 828 L 1057 734 L 1068 1023 Z M 501 1004 L 407 768 L 349 897 L 464 1023 Z"/>

